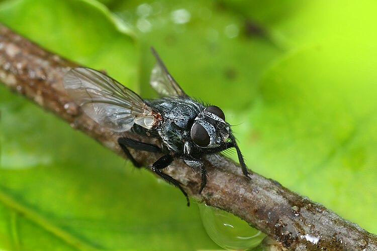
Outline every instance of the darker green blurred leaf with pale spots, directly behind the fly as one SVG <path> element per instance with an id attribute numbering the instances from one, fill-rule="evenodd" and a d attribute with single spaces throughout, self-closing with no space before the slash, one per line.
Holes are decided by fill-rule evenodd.
<path id="1" fill-rule="evenodd" d="M 186 93 L 216 101 L 228 114 L 253 102 L 264 69 L 284 52 L 274 38 L 249 34 L 245 17 L 217 1 L 122 1 L 112 8 L 140 38 L 146 97 L 156 96 L 149 86 L 151 46 Z"/>

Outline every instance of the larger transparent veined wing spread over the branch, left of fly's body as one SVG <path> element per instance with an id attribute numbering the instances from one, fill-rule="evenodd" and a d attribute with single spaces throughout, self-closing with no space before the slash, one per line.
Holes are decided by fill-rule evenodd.
<path id="1" fill-rule="evenodd" d="M 90 68 L 74 68 L 64 76 L 65 90 L 93 120 L 115 132 L 125 132 L 134 123 L 150 129 L 157 113 L 132 90 Z"/>

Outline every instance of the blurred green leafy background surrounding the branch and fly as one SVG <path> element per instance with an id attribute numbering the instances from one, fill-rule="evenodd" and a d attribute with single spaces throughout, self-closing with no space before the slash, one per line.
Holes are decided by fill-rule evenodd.
<path id="1" fill-rule="evenodd" d="M 377 233 L 377 2 L 0 2 L 0 22 L 142 97 L 154 46 L 247 165 Z M 0 249 L 219 248 L 198 208 L 0 86 Z M 210 177 L 211 178 L 211 177 Z"/>

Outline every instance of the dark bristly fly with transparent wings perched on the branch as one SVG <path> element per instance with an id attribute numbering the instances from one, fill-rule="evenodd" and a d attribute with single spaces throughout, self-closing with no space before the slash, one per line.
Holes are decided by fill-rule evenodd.
<path id="1" fill-rule="evenodd" d="M 183 159 L 187 166 L 202 176 L 199 193 L 207 183 L 207 172 L 202 161 L 206 154 L 215 154 L 235 148 L 243 174 L 249 172 L 232 134 L 224 112 L 215 105 L 206 105 L 187 95 L 167 71 L 152 48 L 156 65 L 152 69 L 150 84 L 161 96 L 142 99 L 138 94 L 115 79 L 90 68 L 73 68 L 64 76 L 68 94 L 97 123 L 115 132 L 132 130 L 161 141 L 161 146 L 146 144 L 120 137 L 118 143 L 134 166 L 141 167 L 128 148 L 163 153 L 150 168 L 164 180 L 178 187 L 190 205 L 189 197 L 180 183 L 161 170 L 174 159 Z"/>

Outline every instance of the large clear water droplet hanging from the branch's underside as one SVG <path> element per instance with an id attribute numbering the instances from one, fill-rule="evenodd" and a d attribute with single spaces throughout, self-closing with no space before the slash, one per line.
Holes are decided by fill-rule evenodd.
<path id="1" fill-rule="evenodd" d="M 199 209 L 208 235 L 223 248 L 250 249 L 259 245 L 265 236 L 231 213 L 204 203 L 199 204 Z"/>

